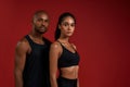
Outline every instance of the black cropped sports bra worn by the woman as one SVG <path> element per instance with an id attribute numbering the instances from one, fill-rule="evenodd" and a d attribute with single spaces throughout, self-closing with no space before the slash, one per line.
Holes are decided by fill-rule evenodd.
<path id="1" fill-rule="evenodd" d="M 60 41 L 57 41 L 60 42 Z M 61 44 L 61 42 L 60 42 Z M 68 67 L 73 65 L 78 65 L 79 64 L 79 54 L 76 51 L 75 53 L 70 52 L 67 50 L 62 44 L 63 52 L 61 57 L 58 58 L 57 66 L 60 67 Z"/>

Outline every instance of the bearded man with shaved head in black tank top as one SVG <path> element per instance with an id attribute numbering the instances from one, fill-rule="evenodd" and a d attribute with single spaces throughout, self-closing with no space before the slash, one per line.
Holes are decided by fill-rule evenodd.
<path id="1" fill-rule="evenodd" d="M 37 11 L 32 16 L 32 30 L 22 38 L 15 49 L 15 87 L 50 87 L 49 48 L 43 37 L 48 30 L 49 16 Z"/>

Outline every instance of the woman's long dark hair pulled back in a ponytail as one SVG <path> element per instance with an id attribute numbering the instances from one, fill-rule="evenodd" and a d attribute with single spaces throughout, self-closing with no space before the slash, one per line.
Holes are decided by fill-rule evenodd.
<path id="1" fill-rule="evenodd" d="M 75 23 L 76 23 L 76 17 L 72 13 L 65 12 L 65 13 L 61 14 L 61 16 L 58 17 L 57 25 L 56 25 L 56 30 L 55 30 L 55 36 L 54 36 L 55 40 L 57 40 L 60 38 L 60 35 L 61 35 L 61 29 L 58 28 L 58 25 L 61 25 L 62 22 L 64 21 L 64 18 L 67 16 L 73 17 Z"/>

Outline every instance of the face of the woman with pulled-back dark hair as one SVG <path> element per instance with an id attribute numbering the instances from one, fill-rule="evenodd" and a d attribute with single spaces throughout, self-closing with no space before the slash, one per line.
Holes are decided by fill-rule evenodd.
<path id="1" fill-rule="evenodd" d="M 67 16 L 63 20 L 61 25 L 58 25 L 58 28 L 61 29 L 61 36 L 63 37 L 69 37 L 73 35 L 75 30 L 75 21 L 73 17 Z"/>

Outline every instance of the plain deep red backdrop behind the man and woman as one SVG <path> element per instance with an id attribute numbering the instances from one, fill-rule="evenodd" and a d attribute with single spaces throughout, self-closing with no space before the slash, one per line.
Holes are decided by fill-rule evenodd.
<path id="1" fill-rule="evenodd" d="M 2 0 L 0 1 L 0 87 L 14 87 L 14 50 L 31 29 L 36 10 L 49 12 L 44 35 L 53 41 L 61 13 L 77 17 L 72 40 L 81 57 L 80 87 L 130 87 L 129 0 Z"/>

